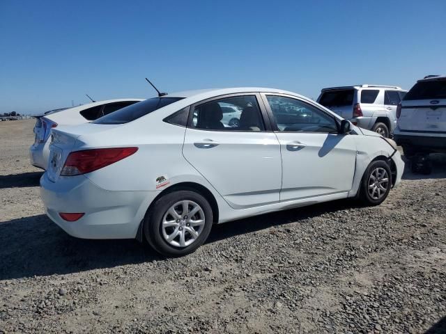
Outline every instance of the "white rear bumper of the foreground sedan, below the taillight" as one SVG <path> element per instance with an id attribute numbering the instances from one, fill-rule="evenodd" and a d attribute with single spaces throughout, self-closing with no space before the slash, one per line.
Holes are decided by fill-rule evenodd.
<path id="1" fill-rule="evenodd" d="M 45 212 L 65 232 L 83 239 L 132 239 L 136 237 L 148 205 L 159 191 L 107 191 L 83 175 L 40 178 Z M 77 221 L 64 221 L 59 212 L 84 213 Z"/>

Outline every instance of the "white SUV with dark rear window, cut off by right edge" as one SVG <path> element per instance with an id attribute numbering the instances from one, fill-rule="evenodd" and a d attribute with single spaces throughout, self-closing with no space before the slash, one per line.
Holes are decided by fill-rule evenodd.
<path id="1" fill-rule="evenodd" d="M 446 77 L 418 80 L 397 108 L 395 141 L 404 155 L 446 152 Z"/>

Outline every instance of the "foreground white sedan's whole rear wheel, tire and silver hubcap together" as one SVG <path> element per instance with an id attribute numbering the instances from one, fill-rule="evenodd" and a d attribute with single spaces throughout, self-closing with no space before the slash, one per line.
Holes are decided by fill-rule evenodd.
<path id="1" fill-rule="evenodd" d="M 185 202 L 187 213 L 199 207 L 192 217 L 184 214 Z M 212 224 L 213 212 L 206 198 L 194 191 L 175 191 L 159 198 L 149 209 L 144 218 L 144 237 L 158 253 L 178 257 L 197 250 L 208 239 Z"/>

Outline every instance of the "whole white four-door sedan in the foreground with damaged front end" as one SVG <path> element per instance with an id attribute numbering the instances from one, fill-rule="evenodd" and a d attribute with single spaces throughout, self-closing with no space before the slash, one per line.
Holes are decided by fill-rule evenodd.
<path id="1" fill-rule="evenodd" d="M 238 127 L 221 122 L 228 105 L 242 110 Z M 217 223 L 340 198 L 378 205 L 404 167 L 394 141 L 270 88 L 151 98 L 52 129 L 50 150 L 49 218 L 75 237 L 145 238 L 171 256 Z"/>

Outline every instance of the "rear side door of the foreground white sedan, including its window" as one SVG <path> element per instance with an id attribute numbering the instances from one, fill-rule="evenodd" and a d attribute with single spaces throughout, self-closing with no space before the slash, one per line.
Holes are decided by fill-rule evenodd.
<path id="1" fill-rule="evenodd" d="M 241 110 L 238 127 L 224 125 L 222 106 Z M 265 115 L 255 93 L 226 95 L 190 109 L 183 155 L 235 209 L 279 201 L 280 146 L 266 131 Z"/>

